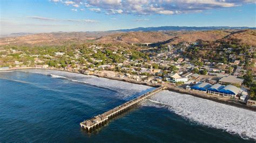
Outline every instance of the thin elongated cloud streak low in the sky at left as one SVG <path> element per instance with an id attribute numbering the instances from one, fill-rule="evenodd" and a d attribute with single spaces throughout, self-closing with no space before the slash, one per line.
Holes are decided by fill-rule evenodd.
<path id="1" fill-rule="evenodd" d="M 79 23 L 98 23 L 98 20 L 92 19 L 57 19 L 57 18 L 48 18 L 48 17 L 38 17 L 38 16 L 27 16 L 30 19 L 49 21 L 49 22 L 79 22 Z"/>

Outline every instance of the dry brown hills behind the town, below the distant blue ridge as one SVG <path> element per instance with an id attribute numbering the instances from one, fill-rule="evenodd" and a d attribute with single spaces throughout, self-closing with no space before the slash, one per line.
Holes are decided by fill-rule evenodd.
<path id="1" fill-rule="evenodd" d="M 105 44 L 154 43 L 178 44 L 197 40 L 232 41 L 256 46 L 256 30 L 161 31 L 161 32 L 52 32 L 19 37 L 0 38 L 2 45 L 61 45 L 65 43 L 96 42 Z"/>

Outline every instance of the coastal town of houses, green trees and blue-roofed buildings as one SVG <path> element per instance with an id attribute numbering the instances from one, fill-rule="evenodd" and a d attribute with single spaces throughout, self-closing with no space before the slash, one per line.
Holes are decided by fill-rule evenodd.
<path id="1" fill-rule="evenodd" d="M 117 48 L 118 47 L 118 48 Z M 210 50 L 210 48 L 215 50 Z M 197 92 L 256 106 L 255 47 L 225 41 L 177 45 L 2 46 L 0 70 L 43 68 Z"/>

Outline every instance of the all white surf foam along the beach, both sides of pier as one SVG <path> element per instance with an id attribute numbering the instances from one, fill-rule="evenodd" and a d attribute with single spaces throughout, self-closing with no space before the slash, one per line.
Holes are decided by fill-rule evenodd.
<path id="1" fill-rule="evenodd" d="M 29 73 L 50 75 L 52 78 L 87 83 L 119 92 L 118 96 L 129 100 L 134 94 L 151 90 L 145 85 L 109 80 L 90 75 L 69 73 L 66 71 L 25 69 Z M 193 123 L 218 128 L 231 134 L 239 134 L 242 138 L 256 140 L 256 113 L 190 95 L 171 91 L 160 91 L 142 103 L 143 106 L 167 108 L 171 112 L 191 120 Z"/>

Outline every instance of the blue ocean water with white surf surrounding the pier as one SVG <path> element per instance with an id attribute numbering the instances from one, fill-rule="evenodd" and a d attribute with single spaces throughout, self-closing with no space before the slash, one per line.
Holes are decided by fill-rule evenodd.
<path id="1" fill-rule="evenodd" d="M 170 91 L 95 132 L 80 128 L 152 89 L 62 71 L 1 71 L 0 142 L 255 142 L 255 112 Z"/>

